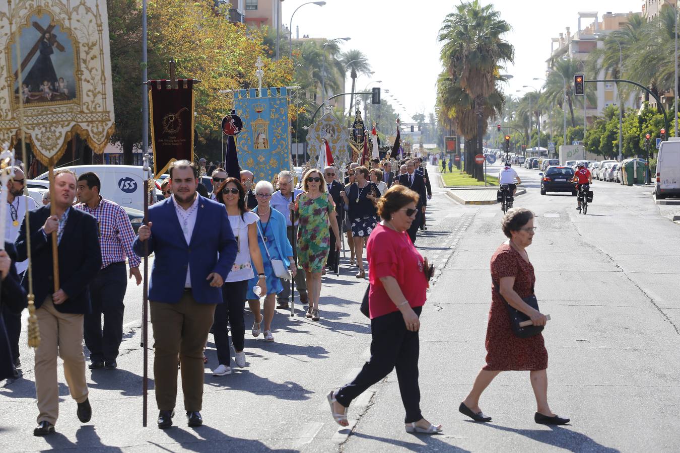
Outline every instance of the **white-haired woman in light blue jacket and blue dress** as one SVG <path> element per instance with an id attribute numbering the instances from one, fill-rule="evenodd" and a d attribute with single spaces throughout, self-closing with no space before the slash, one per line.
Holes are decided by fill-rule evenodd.
<path id="1" fill-rule="evenodd" d="M 258 229 L 258 244 L 260 245 L 260 253 L 262 254 L 262 264 L 265 266 L 267 295 L 265 296 L 265 313 L 264 316 L 260 314 L 260 297 L 253 291 L 258 283 L 258 278 L 255 276 L 248 283 L 248 305 L 250 311 L 255 316 L 253 323 L 252 334 L 254 337 L 260 336 L 260 325 L 262 321 L 265 323 L 265 342 L 273 342 L 274 336 L 271 334 L 271 320 L 274 319 L 274 307 L 276 304 L 276 295 L 284 290 L 281 281 L 274 273 L 271 266 L 272 259 L 280 259 L 284 261 L 284 266 L 290 270 L 293 276 L 297 271 L 295 261 L 293 259 L 293 248 L 290 247 L 288 236 L 286 234 L 286 218 L 282 213 L 271 209 L 269 200 L 271 194 L 274 193 L 274 187 L 269 181 L 260 181 L 255 185 L 255 198 L 257 198 L 257 206 L 252 212 L 259 217 L 257 221 Z"/>

